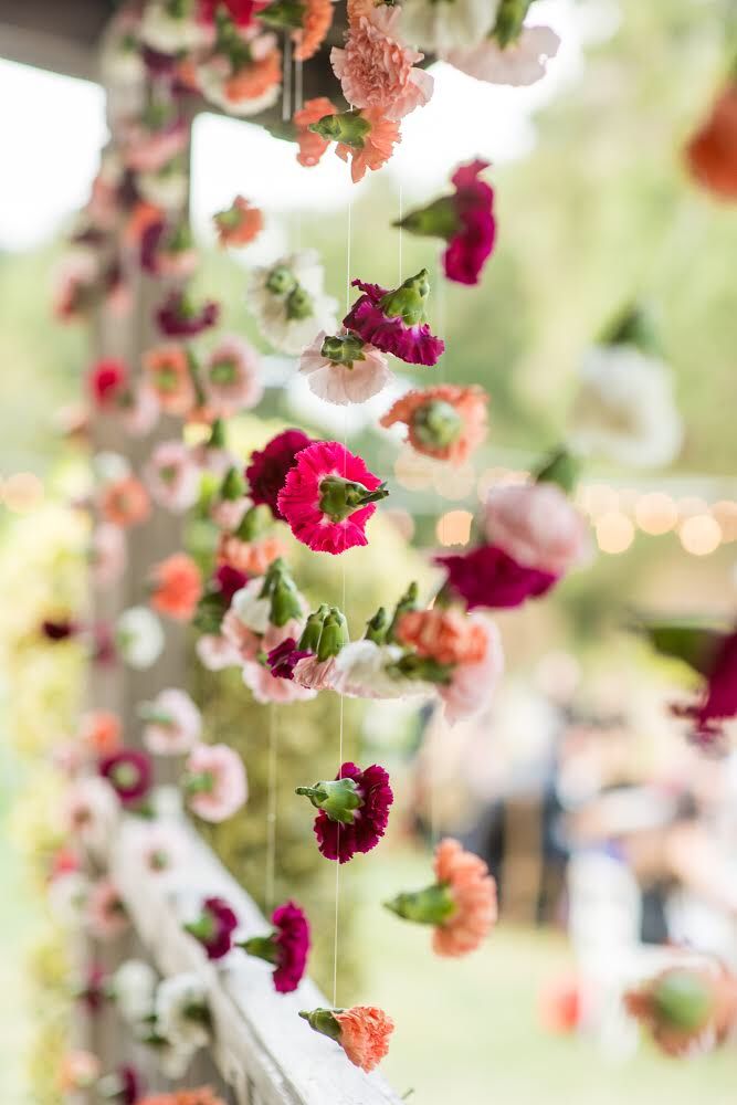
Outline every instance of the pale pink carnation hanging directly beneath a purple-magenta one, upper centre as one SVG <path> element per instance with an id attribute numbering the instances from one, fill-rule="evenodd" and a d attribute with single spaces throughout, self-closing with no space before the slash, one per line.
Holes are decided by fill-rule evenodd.
<path id="1" fill-rule="evenodd" d="M 320 330 L 302 354 L 299 371 L 314 394 L 338 407 L 366 402 L 391 379 L 385 355 L 348 330 L 331 337 Z"/>

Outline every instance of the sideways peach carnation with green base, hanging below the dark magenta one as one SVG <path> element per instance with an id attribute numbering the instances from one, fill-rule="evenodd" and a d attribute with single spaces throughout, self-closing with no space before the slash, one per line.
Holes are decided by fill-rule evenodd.
<path id="1" fill-rule="evenodd" d="M 398 917 L 434 927 L 439 956 L 465 956 L 483 944 L 496 923 L 496 883 L 484 861 L 456 840 L 435 849 L 436 882 L 422 891 L 399 894 L 387 908 Z"/>

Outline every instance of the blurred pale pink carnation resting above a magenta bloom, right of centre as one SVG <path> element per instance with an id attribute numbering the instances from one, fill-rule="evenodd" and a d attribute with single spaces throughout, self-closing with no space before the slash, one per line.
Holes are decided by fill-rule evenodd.
<path id="1" fill-rule="evenodd" d="M 562 576 L 589 557 L 583 518 L 554 483 L 507 484 L 486 499 L 487 539 L 518 564 Z"/>

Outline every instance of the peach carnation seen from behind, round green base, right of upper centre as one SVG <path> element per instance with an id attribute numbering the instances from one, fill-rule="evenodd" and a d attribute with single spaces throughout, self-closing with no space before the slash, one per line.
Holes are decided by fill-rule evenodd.
<path id="1" fill-rule="evenodd" d="M 488 397 L 476 386 L 442 383 L 408 391 L 380 420 L 383 427 L 403 422 L 418 453 L 451 464 L 464 464 L 486 438 Z"/>

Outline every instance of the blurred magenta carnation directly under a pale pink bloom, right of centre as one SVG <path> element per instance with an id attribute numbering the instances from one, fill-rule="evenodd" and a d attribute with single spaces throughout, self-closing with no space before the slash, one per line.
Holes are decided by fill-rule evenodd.
<path id="1" fill-rule="evenodd" d="M 448 571 L 448 585 L 468 610 L 486 607 L 501 610 L 539 598 L 558 581 L 558 576 L 517 564 L 495 545 L 482 545 L 470 552 L 435 557 Z"/>

